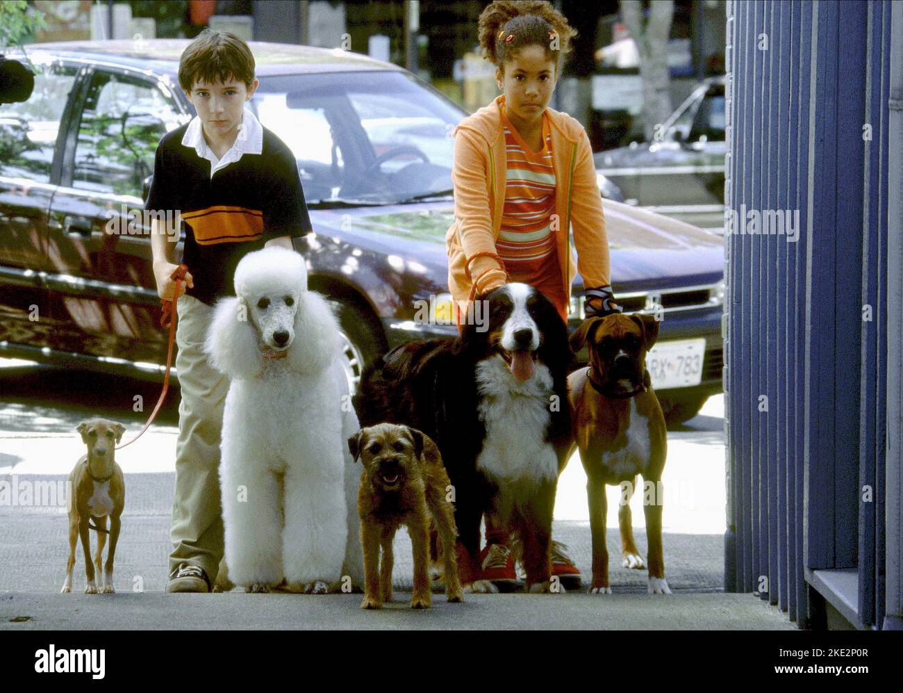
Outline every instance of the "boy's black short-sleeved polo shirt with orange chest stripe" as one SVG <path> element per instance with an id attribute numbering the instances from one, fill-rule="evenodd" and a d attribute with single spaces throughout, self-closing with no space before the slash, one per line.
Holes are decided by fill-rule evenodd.
<path id="1" fill-rule="evenodd" d="M 213 305 L 235 295 L 235 268 L 247 253 L 279 236 L 304 236 L 312 226 L 298 164 L 270 130 L 263 128 L 260 154 L 245 153 L 211 177 L 209 159 L 182 145 L 188 127 L 160 140 L 144 209 L 180 213 L 182 263 L 194 277 L 185 293 Z"/>

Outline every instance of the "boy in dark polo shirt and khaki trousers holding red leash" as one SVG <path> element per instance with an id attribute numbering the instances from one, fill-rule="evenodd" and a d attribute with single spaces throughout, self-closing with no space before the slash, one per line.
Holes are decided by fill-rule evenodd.
<path id="1" fill-rule="evenodd" d="M 189 268 L 176 304 L 182 401 L 167 592 L 209 592 L 223 556 L 219 442 L 228 378 L 203 351 L 212 306 L 234 295 L 235 267 L 248 252 L 292 248 L 312 231 L 292 152 L 245 108 L 258 85 L 254 69 L 247 43 L 228 32 L 201 33 L 182 52 L 179 83 L 198 115 L 160 141 L 145 204 L 181 212 Z M 154 221 L 152 230 L 157 292 L 172 299 L 171 229 Z"/>

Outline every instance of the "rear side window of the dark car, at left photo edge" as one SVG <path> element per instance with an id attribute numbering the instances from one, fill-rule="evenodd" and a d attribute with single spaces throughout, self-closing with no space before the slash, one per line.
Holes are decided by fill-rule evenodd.
<path id="1" fill-rule="evenodd" d="M 49 183 L 60 119 L 77 70 L 60 64 L 35 70 L 31 98 L 0 105 L 0 175 Z"/>

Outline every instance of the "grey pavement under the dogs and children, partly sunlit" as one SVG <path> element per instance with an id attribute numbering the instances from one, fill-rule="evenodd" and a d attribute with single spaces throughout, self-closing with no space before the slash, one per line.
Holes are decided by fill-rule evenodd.
<path id="1" fill-rule="evenodd" d="M 15 407 L 15 406 L 14 406 Z M 619 490 L 609 489 L 608 546 L 613 595 L 467 595 L 431 613 L 408 614 L 411 587 L 407 533 L 396 537 L 397 602 L 364 613 L 360 595 L 166 595 L 172 470 L 176 428 L 153 426 L 120 451 L 126 472 L 126 512 L 116 551 L 116 595 L 84 595 L 80 549 L 73 594 L 60 595 L 68 556 L 65 481 L 81 454 L 71 433 L 83 412 L 10 410 L 0 420 L 0 629 L 79 628 L 581 628 L 787 629 L 796 626 L 753 595 L 723 588 L 724 448 L 722 398 L 668 434 L 665 473 L 666 576 L 674 595 L 646 594 L 645 571 L 620 567 Z M 50 420 L 50 418 L 55 417 Z M 140 426 L 128 424 L 124 440 Z M 575 455 L 559 482 L 554 537 L 567 544 L 584 583 L 590 576 L 591 534 L 585 475 Z M 56 494 L 56 498 L 53 494 Z M 23 495 L 24 494 L 24 495 Z M 24 502 L 23 502 L 24 501 Z M 642 492 L 631 501 L 641 554 L 646 554 Z M 92 537 L 92 541 L 94 538 Z M 141 594 L 136 594 L 141 593 Z M 250 604 L 253 600 L 254 604 Z M 402 615 L 399 615 L 399 612 Z M 10 621 L 23 617 L 21 621 Z"/>

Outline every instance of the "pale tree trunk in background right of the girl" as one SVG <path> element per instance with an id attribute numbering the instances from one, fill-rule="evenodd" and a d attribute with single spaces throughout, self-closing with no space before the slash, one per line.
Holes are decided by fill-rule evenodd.
<path id="1" fill-rule="evenodd" d="M 643 130 L 647 141 L 652 141 L 656 125 L 664 123 L 672 111 L 667 56 L 675 4 L 673 0 L 650 0 L 645 20 L 642 0 L 621 0 L 620 6 L 621 17 L 637 44 L 643 81 Z"/>

